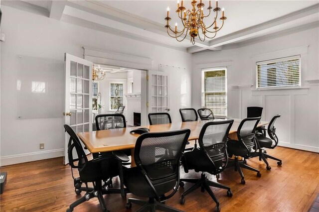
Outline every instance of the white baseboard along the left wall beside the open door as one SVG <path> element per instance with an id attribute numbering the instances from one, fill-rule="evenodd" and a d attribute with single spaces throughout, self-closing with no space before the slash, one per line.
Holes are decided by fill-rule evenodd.
<path id="1" fill-rule="evenodd" d="M 64 155 L 63 149 L 52 149 L 52 150 L 46 150 L 46 151 L 40 151 L 40 152 L 8 155 L 8 156 L 3 156 L 0 158 L 0 165 L 6 166 L 6 165 L 11 165 L 16 163 L 25 163 L 25 162 L 36 161 L 36 160 L 62 157 L 63 155 Z"/>

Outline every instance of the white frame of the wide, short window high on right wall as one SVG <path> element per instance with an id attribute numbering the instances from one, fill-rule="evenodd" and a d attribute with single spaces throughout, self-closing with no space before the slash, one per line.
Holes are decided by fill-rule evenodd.
<path id="1" fill-rule="evenodd" d="M 299 59 L 299 84 L 298 85 L 276 85 L 276 86 L 265 86 L 265 87 L 258 87 L 258 66 L 263 65 L 263 64 L 270 64 L 270 63 L 277 63 L 281 61 L 288 61 L 288 60 L 294 60 L 294 59 Z M 269 59 L 269 60 L 263 60 L 263 61 L 257 61 L 255 63 L 255 83 L 256 83 L 256 90 L 272 90 L 272 89 L 282 89 L 282 88 L 301 88 L 301 69 L 302 69 L 302 55 L 292 55 L 292 56 L 287 56 L 287 57 L 280 57 L 280 58 L 275 58 L 275 59 Z M 276 70 L 277 73 L 277 70 Z M 268 79 L 266 81 L 268 83 Z"/>

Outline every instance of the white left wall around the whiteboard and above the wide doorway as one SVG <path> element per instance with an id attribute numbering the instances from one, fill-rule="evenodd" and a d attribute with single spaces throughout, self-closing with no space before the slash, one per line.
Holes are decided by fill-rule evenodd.
<path id="1" fill-rule="evenodd" d="M 82 47 L 87 46 L 151 58 L 153 70 L 158 70 L 158 64 L 183 67 L 186 68 L 184 77 L 191 77 L 192 55 L 186 52 L 94 31 L 8 6 L 2 5 L 1 9 L 1 31 L 5 33 L 5 41 L 1 43 L 1 165 L 63 154 L 63 111 L 61 118 L 15 118 L 16 57 L 19 54 L 64 61 L 65 52 L 83 58 Z M 190 96 L 190 86 L 187 91 Z M 178 108 L 172 109 L 178 111 Z M 39 143 L 45 143 L 44 150 L 39 150 Z"/>

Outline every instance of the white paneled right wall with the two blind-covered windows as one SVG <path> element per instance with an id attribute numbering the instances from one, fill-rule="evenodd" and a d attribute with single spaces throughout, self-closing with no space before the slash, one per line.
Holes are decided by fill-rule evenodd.
<path id="1" fill-rule="evenodd" d="M 257 61 L 296 54 L 301 54 L 302 87 L 306 89 L 256 91 Z M 237 48 L 194 54 L 192 106 L 201 106 L 200 68 L 227 66 L 228 116 L 246 117 L 247 106 L 263 106 L 263 120 L 269 121 L 273 115 L 281 113 L 282 117 L 276 123 L 280 145 L 319 152 L 318 58 L 318 27 L 264 38 Z M 315 80 L 315 83 L 305 80 Z M 230 86 L 239 88 L 231 89 Z"/>

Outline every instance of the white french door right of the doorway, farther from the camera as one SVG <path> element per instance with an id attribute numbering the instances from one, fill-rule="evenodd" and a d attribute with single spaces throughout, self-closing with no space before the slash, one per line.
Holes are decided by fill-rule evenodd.
<path id="1" fill-rule="evenodd" d="M 148 71 L 148 76 L 148 112 L 169 113 L 168 73 Z M 158 122 L 161 123 L 162 120 L 158 120 Z"/>

